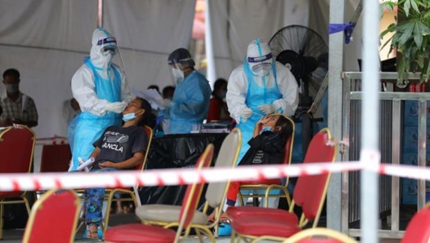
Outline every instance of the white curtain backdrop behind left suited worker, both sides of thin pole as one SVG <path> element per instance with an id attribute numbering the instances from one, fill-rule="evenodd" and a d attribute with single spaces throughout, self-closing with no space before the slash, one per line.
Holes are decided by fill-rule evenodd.
<path id="1" fill-rule="evenodd" d="M 104 27 L 117 37 L 131 87 L 171 85 L 167 56 L 187 47 L 196 0 L 105 0 Z M 89 55 L 96 0 L 0 0 L 0 72 L 21 73 L 20 90 L 35 100 L 37 137 L 66 135 L 62 103 Z M 114 62 L 121 65 L 121 60 Z M 4 87 L 0 85 L 1 94 Z"/>

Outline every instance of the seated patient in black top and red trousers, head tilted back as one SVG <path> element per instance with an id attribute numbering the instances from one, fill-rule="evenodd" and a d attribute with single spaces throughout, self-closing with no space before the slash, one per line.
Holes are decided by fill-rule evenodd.
<path id="1" fill-rule="evenodd" d="M 260 131 L 261 130 L 261 131 Z M 261 118 L 255 124 L 254 134 L 248 141 L 250 149 L 246 151 L 239 165 L 275 165 L 282 163 L 284 146 L 289 137 L 293 135 L 293 127 L 288 119 L 282 115 L 271 115 Z M 241 183 L 231 182 L 227 191 L 227 201 L 223 211 L 228 206 L 234 206 Z M 225 215 L 221 215 L 221 218 Z M 212 220 L 213 216 L 209 216 Z"/>

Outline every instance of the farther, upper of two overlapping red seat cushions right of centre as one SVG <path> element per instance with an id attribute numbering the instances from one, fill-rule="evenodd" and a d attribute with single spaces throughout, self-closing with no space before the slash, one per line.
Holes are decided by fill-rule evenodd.
<path id="1" fill-rule="evenodd" d="M 238 219 L 239 217 L 255 216 L 270 217 L 274 219 L 280 219 L 291 224 L 298 224 L 298 217 L 294 213 L 277 208 L 258 208 L 251 206 L 228 207 L 225 213 L 232 221 Z"/>

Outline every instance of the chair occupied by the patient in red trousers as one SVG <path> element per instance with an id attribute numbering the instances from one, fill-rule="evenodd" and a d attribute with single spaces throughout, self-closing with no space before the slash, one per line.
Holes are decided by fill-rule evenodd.
<path id="1" fill-rule="evenodd" d="M 279 114 L 273 114 L 273 115 L 279 115 Z M 273 116 L 270 115 L 269 117 Z M 294 140 L 294 132 L 295 132 L 295 124 L 294 121 L 291 120 L 289 117 L 283 116 L 291 124 L 291 127 L 293 128 L 293 133 L 291 134 L 291 137 L 289 137 L 288 140 L 286 140 L 285 147 L 284 147 L 284 158 L 282 160 L 283 165 L 290 165 L 291 164 L 291 156 L 293 154 L 293 140 Z M 241 190 L 265 190 L 264 194 L 247 194 L 246 196 L 243 196 L 241 193 L 239 193 L 239 199 L 241 202 L 241 205 L 244 205 L 243 203 L 243 197 L 246 198 L 253 198 L 257 199 L 260 197 L 264 198 L 264 206 L 268 207 L 268 199 L 270 197 L 285 197 L 288 205 L 291 204 L 291 196 L 286 189 L 289 183 L 289 178 L 286 178 L 286 183 L 282 183 L 281 178 L 275 178 L 275 179 L 257 179 L 252 181 L 243 181 L 241 183 Z M 271 190 L 282 190 L 284 194 L 275 194 L 270 195 Z M 240 191 L 239 191 L 240 192 Z"/>

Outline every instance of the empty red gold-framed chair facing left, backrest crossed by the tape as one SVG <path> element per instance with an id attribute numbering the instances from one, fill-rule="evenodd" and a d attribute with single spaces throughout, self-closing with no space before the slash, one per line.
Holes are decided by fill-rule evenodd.
<path id="1" fill-rule="evenodd" d="M 324 128 L 312 138 L 304 163 L 334 161 L 335 156 L 336 146 L 329 130 Z M 238 241 L 241 237 L 282 241 L 301 231 L 309 221 L 313 221 L 312 227 L 315 228 L 327 194 L 329 178 L 330 174 L 300 176 L 289 211 L 250 206 L 227 208 L 227 216 L 232 221 L 232 241 L 234 233 L 239 235 Z M 302 207 L 300 219 L 293 212 L 295 205 Z"/>

